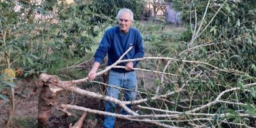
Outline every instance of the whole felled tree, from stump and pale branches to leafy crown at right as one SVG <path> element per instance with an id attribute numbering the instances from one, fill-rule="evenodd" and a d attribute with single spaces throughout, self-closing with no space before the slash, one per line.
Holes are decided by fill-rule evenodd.
<path id="1" fill-rule="evenodd" d="M 131 114 L 120 115 L 70 104 L 56 105 L 68 115 L 72 115 L 68 109 L 76 109 L 148 122 L 161 127 L 255 127 L 256 30 L 253 22 L 255 18 L 249 17 L 255 14 L 255 9 L 248 1 L 208 1 L 204 3 L 203 9 L 202 6 L 189 2 L 184 5 L 188 4 L 191 4 L 187 8 L 190 27 L 188 31 L 191 30 L 191 38 L 179 42 L 179 47 L 172 57 L 145 57 L 132 60 L 122 60 L 121 57 L 116 63 L 97 73 L 99 76 L 111 68 L 124 68 L 116 65 L 127 61 L 164 61 L 166 63 L 163 67 L 156 67 L 154 70 L 134 68 L 140 72 L 158 74 L 156 91 L 141 88 L 138 92 L 141 99 L 131 102 L 113 99 L 76 86 L 87 81 L 88 77 L 61 81 L 56 76 L 41 74 L 40 85 L 49 88 L 51 93 L 65 89 L 95 99 L 115 102 Z M 237 7 L 243 7 L 244 11 Z M 234 9 L 236 14 L 230 12 L 230 8 Z M 242 16 L 237 16 L 242 12 Z M 221 19 L 230 17 L 233 21 L 220 23 Z M 147 83 L 143 85 L 147 86 Z M 51 101 L 47 104 L 50 103 Z M 135 113 L 127 108 L 127 104 L 138 106 L 141 113 Z"/>

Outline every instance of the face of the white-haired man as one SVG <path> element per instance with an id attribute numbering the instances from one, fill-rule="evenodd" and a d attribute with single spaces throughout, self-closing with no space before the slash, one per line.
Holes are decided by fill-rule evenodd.
<path id="1" fill-rule="evenodd" d="M 131 24 L 132 22 L 130 20 L 129 13 L 127 12 L 121 13 L 118 20 L 118 26 L 120 28 L 120 31 L 122 31 L 123 33 L 128 33 Z"/>

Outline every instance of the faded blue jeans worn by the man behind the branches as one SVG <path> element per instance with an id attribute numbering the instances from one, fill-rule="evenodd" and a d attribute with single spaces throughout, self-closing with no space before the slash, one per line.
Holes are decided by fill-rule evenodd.
<path id="1" fill-rule="evenodd" d="M 110 70 L 108 84 L 112 86 L 132 90 L 132 91 L 124 90 L 125 100 L 129 101 L 129 100 L 136 99 L 137 93 L 133 92 L 138 90 L 136 71 L 131 71 L 127 73 L 118 73 L 113 70 Z M 119 93 L 120 93 L 120 89 L 108 86 L 107 95 L 109 97 L 114 97 L 115 99 L 118 99 Z M 127 107 L 131 108 L 131 104 L 127 105 Z M 106 101 L 106 112 L 116 113 L 116 104 L 114 104 L 113 102 Z M 121 110 L 121 113 L 123 115 L 129 114 L 123 109 Z M 105 116 L 103 127 L 113 128 L 115 126 L 115 120 L 116 119 L 113 116 Z"/>

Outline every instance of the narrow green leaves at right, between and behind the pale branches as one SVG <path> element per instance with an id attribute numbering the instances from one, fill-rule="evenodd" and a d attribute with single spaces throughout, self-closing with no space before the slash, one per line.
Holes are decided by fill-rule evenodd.
<path id="1" fill-rule="evenodd" d="M 223 6 L 221 6 L 222 4 Z M 206 8 L 207 6 L 209 8 Z M 220 69 L 243 72 L 241 74 L 220 72 L 220 70 L 212 69 L 206 65 L 175 62 L 175 68 L 171 68 L 171 70 L 172 72 L 180 72 L 180 77 L 176 79 L 177 84 L 179 86 L 188 84 L 186 87 L 188 93 L 180 94 L 179 98 L 173 100 L 193 99 L 189 103 L 189 109 L 193 109 L 195 106 L 213 101 L 225 90 L 240 87 L 241 91 L 225 93 L 221 99 L 253 104 L 255 87 L 249 87 L 248 89 L 251 92 L 246 92 L 243 84 L 255 83 L 256 81 L 255 1 L 178 0 L 173 1 L 173 8 L 182 12 L 182 23 L 187 28 L 187 31 L 180 37 L 181 42 L 179 44 L 182 47 L 179 47 L 179 49 L 182 50 L 177 52 L 175 58 L 203 61 Z M 219 8 L 220 12 L 218 12 Z M 193 40 L 197 31 L 199 31 L 199 36 Z M 172 86 L 175 86 L 175 84 L 172 83 Z M 191 93 L 193 93 L 193 96 L 191 96 Z M 185 104 L 186 102 L 184 104 L 180 103 L 182 106 Z M 178 108 L 175 106 L 173 109 Z M 184 111 L 184 108 L 180 109 Z M 252 126 L 251 123 L 254 119 L 244 118 L 237 114 L 237 111 L 244 111 L 244 113 L 253 116 L 254 110 L 252 108 L 221 103 L 209 106 L 208 109 L 200 112 L 221 115 L 221 113 L 227 111 L 231 113 L 230 109 L 232 109 L 234 116 L 217 119 L 212 117 L 216 122 L 202 122 L 209 127 L 220 125 L 219 122 L 241 123 Z M 236 127 L 236 125 L 228 125 L 229 127 Z M 227 127 L 227 125 L 222 124 L 221 127 Z"/>

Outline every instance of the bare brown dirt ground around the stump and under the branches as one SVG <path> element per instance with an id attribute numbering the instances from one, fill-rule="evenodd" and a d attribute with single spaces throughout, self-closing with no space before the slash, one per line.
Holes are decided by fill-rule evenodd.
<path id="1" fill-rule="evenodd" d="M 17 83 L 17 88 L 15 88 L 15 111 L 12 115 L 12 127 L 37 127 L 36 117 L 38 112 L 37 105 L 39 92 L 33 92 L 33 89 L 36 85 L 35 83 L 36 80 L 22 80 Z M 90 87 L 86 88 L 86 90 L 95 91 L 95 88 Z M 92 99 L 90 97 L 84 97 L 76 93 L 70 92 L 61 92 L 58 98 L 58 102 L 74 104 L 90 109 L 104 109 L 104 105 L 103 108 L 99 107 L 100 100 Z M 4 100 L 0 100 L 0 108 L 0 127 L 6 127 L 6 122 L 8 120 L 9 103 Z M 77 117 L 67 116 L 67 114 L 63 113 L 62 111 L 58 111 L 56 108 L 52 108 L 52 115 L 49 118 L 50 124 L 47 127 L 68 127 L 70 123 L 74 124 L 79 116 L 83 113 L 82 111 L 71 112 L 75 113 Z M 102 127 L 103 122 L 104 116 L 88 113 L 88 115 L 86 116 L 86 120 L 84 120 L 83 127 Z M 130 122 L 129 120 L 116 118 L 115 127 L 149 128 L 154 127 L 154 125 L 144 122 Z"/>

